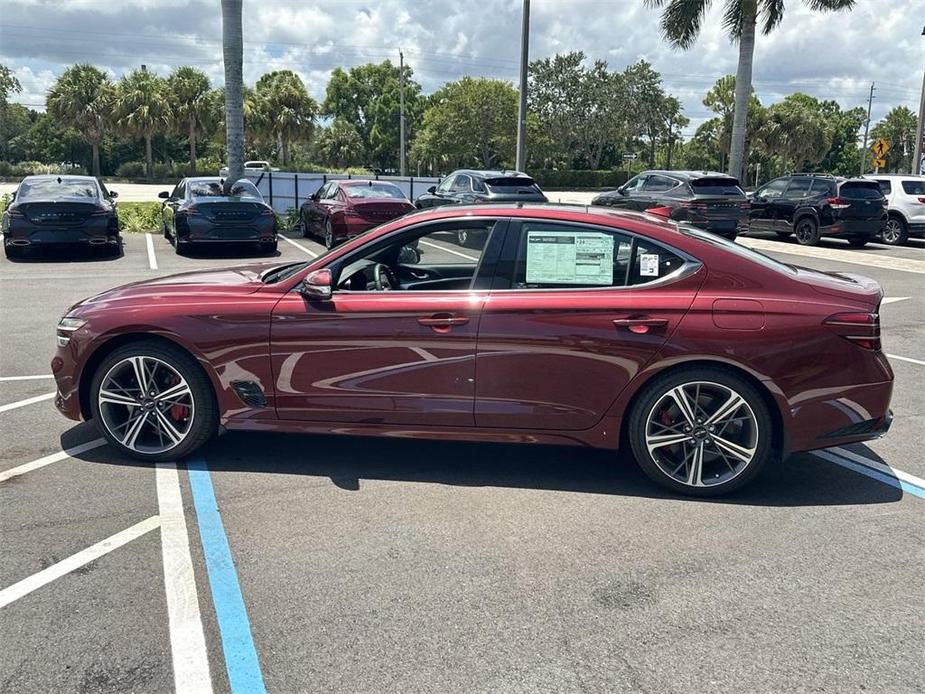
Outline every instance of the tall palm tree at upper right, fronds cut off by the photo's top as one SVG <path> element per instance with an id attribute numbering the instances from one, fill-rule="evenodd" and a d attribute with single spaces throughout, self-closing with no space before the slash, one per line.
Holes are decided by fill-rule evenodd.
<path id="1" fill-rule="evenodd" d="M 649 7 L 664 8 L 662 34 L 673 46 L 688 49 L 697 40 L 700 25 L 712 0 L 645 0 Z M 749 96 L 752 91 L 752 62 L 755 55 L 755 30 L 761 21 L 761 33 L 769 34 L 784 17 L 784 0 L 723 0 L 723 26 L 733 43 L 739 44 L 736 69 L 735 111 L 732 118 L 732 144 L 728 173 L 742 176 Z M 856 0 L 804 0 L 810 9 L 835 12 L 851 9 Z"/>

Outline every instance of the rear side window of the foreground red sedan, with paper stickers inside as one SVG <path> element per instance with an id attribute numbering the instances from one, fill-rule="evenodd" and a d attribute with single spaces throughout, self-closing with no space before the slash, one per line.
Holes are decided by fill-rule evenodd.
<path id="1" fill-rule="evenodd" d="M 531 221 L 521 229 L 514 289 L 642 285 L 684 264 L 668 249 L 614 229 Z"/>

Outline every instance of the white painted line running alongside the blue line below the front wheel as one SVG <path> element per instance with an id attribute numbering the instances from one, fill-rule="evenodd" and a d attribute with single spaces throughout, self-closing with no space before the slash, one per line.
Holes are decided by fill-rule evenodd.
<path id="1" fill-rule="evenodd" d="M 177 466 L 158 463 L 156 478 L 174 684 L 178 692 L 208 694 L 212 677 Z"/>

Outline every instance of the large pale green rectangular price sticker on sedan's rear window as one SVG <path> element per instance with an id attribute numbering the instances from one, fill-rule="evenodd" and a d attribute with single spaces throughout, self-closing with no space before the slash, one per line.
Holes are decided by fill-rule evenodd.
<path id="1" fill-rule="evenodd" d="M 613 284 L 610 234 L 527 232 L 527 284 Z"/>

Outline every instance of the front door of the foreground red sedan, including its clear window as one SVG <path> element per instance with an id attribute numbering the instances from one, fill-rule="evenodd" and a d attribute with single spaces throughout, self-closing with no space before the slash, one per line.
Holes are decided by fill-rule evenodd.
<path id="1" fill-rule="evenodd" d="M 495 220 L 468 223 L 489 242 Z M 271 341 L 281 419 L 474 424 L 487 296 L 475 282 L 485 246 L 461 252 L 452 243 L 459 225 L 424 225 L 339 259 L 329 301 L 293 291 L 277 304 Z"/>

